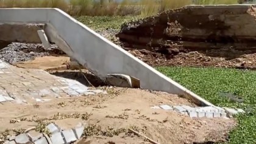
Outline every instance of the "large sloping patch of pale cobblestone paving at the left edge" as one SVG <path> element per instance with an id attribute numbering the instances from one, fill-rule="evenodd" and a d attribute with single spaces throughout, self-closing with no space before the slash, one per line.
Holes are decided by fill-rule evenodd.
<path id="1" fill-rule="evenodd" d="M 5 89 L 5 91 L 0 89 L 0 102 L 13 101 L 23 103 L 23 100 L 29 98 L 41 100 L 41 97 L 48 96 L 52 98 L 74 97 L 104 92 L 101 90 L 90 91 L 87 86 L 76 80 L 57 77 L 43 70 L 21 69 L 2 61 L 0 61 L 0 74 L 0 87 Z M 40 102 L 43 102 L 43 100 Z"/>

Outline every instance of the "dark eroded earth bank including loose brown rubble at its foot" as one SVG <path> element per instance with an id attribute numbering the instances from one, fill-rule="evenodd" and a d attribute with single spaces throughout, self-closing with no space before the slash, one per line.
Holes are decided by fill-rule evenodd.
<path id="1" fill-rule="evenodd" d="M 254 68 L 255 24 L 253 5 L 189 6 L 124 24 L 117 36 L 154 66 Z"/>

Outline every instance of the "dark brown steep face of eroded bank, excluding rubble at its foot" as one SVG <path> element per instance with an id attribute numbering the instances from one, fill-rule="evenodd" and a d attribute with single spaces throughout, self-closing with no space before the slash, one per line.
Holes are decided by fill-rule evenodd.
<path id="1" fill-rule="evenodd" d="M 124 24 L 117 36 L 127 47 L 174 54 L 173 48 L 256 51 L 255 10 L 254 5 L 187 6 Z"/>

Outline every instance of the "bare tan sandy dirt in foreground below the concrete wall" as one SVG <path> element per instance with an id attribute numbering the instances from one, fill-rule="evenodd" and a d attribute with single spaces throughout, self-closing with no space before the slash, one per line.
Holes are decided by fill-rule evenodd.
<path id="1" fill-rule="evenodd" d="M 174 111 L 151 109 L 163 104 L 194 106 L 177 95 L 123 88 L 108 88 L 107 92 L 46 103 L 4 103 L 0 105 L 0 129 L 26 129 L 49 121 L 61 128 L 73 128 L 82 122 L 87 123 L 85 135 L 91 143 L 147 143 L 142 137 L 126 135 L 127 128 L 159 143 L 193 143 L 223 141 L 234 126 L 231 119 L 190 118 Z"/>

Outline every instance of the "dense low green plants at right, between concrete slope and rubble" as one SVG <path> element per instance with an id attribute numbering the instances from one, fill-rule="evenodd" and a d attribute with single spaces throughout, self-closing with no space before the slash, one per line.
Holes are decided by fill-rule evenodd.
<path id="1" fill-rule="evenodd" d="M 236 117 L 238 126 L 230 132 L 228 143 L 256 143 L 255 71 L 194 67 L 157 67 L 157 70 L 215 105 L 245 109 L 247 114 Z M 244 102 L 232 102 L 219 92 L 239 95 Z"/>

